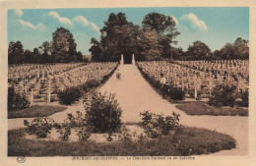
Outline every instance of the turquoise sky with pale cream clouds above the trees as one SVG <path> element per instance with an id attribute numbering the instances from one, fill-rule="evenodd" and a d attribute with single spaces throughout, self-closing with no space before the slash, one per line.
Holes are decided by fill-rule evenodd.
<path id="1" fill-rule="evenodd" d="M 172 16 L 181 34 L 176 47 L 188 48 L 193 41 L 205 42 L 212 51 L 237 37 L 249 39 L 249 8 L 102 8 L 102 9 L 16 9 L 8 10 L 8 42 L 22 41 L 25 49 L 52 40 L 56 28 L 68 28 L 77 50 L 89 55 L 92 37 L 99 39 L 99 29 L 110 13 L 123 12 L 127 21 L 142 24 L 151 12 Z"/>

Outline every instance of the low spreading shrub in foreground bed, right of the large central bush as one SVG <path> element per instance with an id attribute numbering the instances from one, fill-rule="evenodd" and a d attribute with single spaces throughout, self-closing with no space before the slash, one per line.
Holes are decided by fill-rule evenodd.
<path id="1" fill-rule="evenodd" d="M 154 114 L 149 111 L 140 113 L 142 122 L 140 123 L 145 133 L 150 138 L 167 136 L 170 132 L 175 132 L 179 126 L 179 114 L 172 112 L 172 116 L 164 117 L 162 114 Z"/>

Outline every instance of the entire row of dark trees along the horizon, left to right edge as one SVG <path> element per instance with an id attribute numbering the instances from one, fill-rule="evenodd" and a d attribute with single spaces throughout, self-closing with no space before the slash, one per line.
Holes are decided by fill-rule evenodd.
<path id="1" fill-rule="evenodd" d="M 121 54 L 126 63 L 130 63 L 132 54 L 136 55 L 137 61 L 249 59 L 249 41 L 241 37 L 215 51 L 202 41 L 194 41 L 187 50 L 174 47 L 177 44 L 175 38 L 180 35 L 175 27 L 172 17 L 155 12 L 144 17 L 142 26 L 128 22 L 124 13 L 111 13 L 100 29 L 100 39 L 91 39 L 92 61 L 119 61 Z M 24 51 L 21 41 L 11 41 L 8 63 L 83 61 L 83 55 L 76 47 L 72 33 L 66 28 L 57 28 L 52 33 L 52 41 L 45 41 L 32 51 Z"/>

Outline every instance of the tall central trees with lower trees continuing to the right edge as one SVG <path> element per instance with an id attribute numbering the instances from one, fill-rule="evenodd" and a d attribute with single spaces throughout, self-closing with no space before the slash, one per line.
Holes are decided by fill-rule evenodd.
<path id="1" fill-rule="evenodd" d="M 241 37 L 214 52 L 202 41 L 194 41 L 187 50 L 174 47 L 180 35 L 175 26 L 172 17 L 155 12 L 145 16 L 142 27 L 128 22 L 124 13 L 111 13 L 89 51 L 94 61 L 118 61 L 121 54 L 135 54 L 137 61 L 249 59 L 249 41 Z"/>

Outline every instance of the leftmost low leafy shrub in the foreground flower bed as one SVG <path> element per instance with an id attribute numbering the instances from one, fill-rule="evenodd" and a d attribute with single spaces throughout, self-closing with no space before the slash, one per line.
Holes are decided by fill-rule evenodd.
<path id="1" fill-rule="evenodd" d="M 35 118 L 29 123 L 24 120 L 29 135 L 36 135 L 37 138 L 46 138 L 50 134 L 50 130 L 54 127 L 53 119 L 47 117 Z"/>

